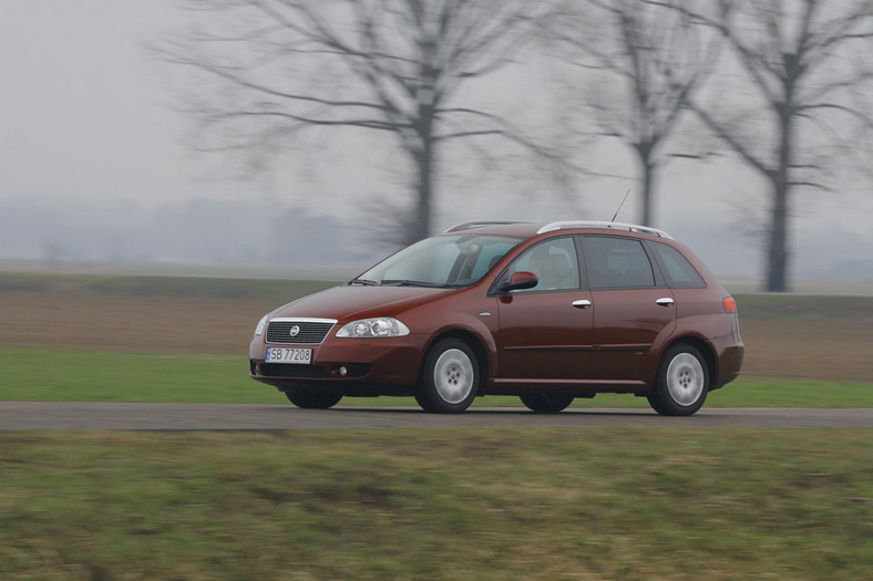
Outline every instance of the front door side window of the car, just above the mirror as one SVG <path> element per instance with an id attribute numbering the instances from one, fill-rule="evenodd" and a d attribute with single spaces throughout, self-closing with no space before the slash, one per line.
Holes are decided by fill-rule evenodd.
<path id="1" fill-rule="evenodd" d="M 552 238 L 522 252 L 507 269 L 504 278 L 514 272 L 533 272 L 540 279 L 536 287 L 514 292 L 572 290 L 579 288 L 579 261 L 573 238 Z"/>

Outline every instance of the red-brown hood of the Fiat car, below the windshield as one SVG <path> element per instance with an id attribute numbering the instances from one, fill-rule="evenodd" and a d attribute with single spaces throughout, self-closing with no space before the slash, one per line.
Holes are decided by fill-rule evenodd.
<path id="1" fill-rule="evenodd" d="M 453 289 L 421 287 L 335 287 L 281 307 L 277 317 L 315 317 L 348 322 L 367 317 L 394 317 Z"/>

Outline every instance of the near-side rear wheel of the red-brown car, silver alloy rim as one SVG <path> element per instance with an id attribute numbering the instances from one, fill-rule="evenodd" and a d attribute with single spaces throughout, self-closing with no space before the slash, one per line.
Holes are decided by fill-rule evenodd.
<path id="1" fill-rule="evenodd" d="M 687 344 L 664 352 L 655 386 L 648 395 L 653 409 L 665 416 L 690 416 L 709 393 L 709 367 L 700 351 Z"/>

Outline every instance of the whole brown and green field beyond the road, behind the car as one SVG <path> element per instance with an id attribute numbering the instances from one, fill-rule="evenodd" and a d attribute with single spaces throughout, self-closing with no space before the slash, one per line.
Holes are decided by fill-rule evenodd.
<path id="1" fill-rule="evenodd" d="M 278 304 L 333 284 L 0 272 L 0 398 L 281 401 L 247 377 L 254 324 Z M 743 376 L 707 405 L 870 405 L 873 298 L 737 299 Z M 647 404 L 598 396 L 576 405 Z"/>

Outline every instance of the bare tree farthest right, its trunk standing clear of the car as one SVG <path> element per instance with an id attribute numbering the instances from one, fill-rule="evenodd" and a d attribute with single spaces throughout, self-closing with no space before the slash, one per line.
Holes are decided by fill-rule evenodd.
<path id="1" fill-rule="evenodd" d="M 794 194 L 829 189 L 834 154 L 863 152 L 856 139 L 873 129 L 873 110 L 855 98 L 873 90 L 873 0 L 721 0 L 715 13 L 692 15 L 722 34 L 762 103 L 728 116 L 692 100 L 699 118 L 769 184 L 764 289 L 785 291 Z M 761 135 L 768 126 L 773 137 Z"/>

